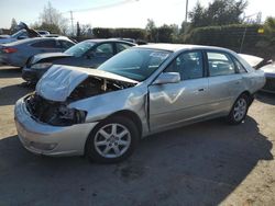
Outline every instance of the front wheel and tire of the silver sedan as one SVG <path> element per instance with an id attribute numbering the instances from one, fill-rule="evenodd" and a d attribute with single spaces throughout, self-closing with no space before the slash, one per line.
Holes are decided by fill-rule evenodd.
<path id="1" fill-rule="evenodd" d="M 86 142 L 86 154 L 99 163 L 124 160 L 134 151 L 139 130 L 134 123 L 123 116 L 113 116 L 99 123 Z"/>

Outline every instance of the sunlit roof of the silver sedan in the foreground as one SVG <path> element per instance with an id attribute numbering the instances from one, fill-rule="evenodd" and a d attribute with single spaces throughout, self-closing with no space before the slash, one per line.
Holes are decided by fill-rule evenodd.
<path id="1" fill-rule="evenodd" d="M 202 46 L 202 45 L 190 45 L 190 44 L 146 44 L 140 45 L 139 48 L 148 48 L 148 49 L 161 49 L 161 50 L 168 50 L 168 52 L 178 52 L 178 50 L 188 50 L 188 49 L 219 49 L 224 52 L 230 52 L 227 48 L 216 47 L 216 46 Z"/>

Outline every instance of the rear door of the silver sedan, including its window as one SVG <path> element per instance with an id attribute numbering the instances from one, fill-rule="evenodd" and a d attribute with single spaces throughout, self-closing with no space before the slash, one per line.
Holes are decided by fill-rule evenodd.
<path id="1" fill-rule="evenodd" d="M 227 114 L 235 98 L 243 91 L 242 75 L 228 53 L 207 50 L 206 57 L 209 72 L 209 111 L 212 114 Z"/>

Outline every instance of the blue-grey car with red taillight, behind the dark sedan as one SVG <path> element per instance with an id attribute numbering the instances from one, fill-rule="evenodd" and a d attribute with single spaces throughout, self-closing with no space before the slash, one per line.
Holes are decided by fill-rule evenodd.
<path id="1" fill-rule="evenodd" d="M 64 52 L 75 45 L 63 37 L 35 37 L 18 41 L 0 46 L 0 62 L 15 67 L 24 67 L 26 60 L 41 53 Z"/>

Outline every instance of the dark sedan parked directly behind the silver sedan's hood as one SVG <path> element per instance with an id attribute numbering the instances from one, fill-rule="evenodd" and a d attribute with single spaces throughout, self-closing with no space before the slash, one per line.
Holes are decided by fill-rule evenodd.
<path id="1" fill-rule="evenodd" d="M 52 65 L 97 68 L 113 55 L 135 44 L 112 39 L 89 39 L 76 44 L 64 53 L 35 55 L 22 70 L 22 78 L 36 83 Z"/>

